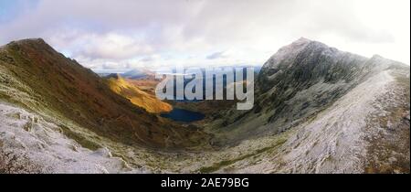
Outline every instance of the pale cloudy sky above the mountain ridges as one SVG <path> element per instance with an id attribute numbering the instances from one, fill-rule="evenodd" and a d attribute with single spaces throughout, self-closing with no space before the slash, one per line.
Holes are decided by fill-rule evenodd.
<path id="1" fill-rule="evenodd" d="M 95 71 L 262 65 L 307 37 L 410 63 L 409 0 L 0 0 L 0 44 L 42 37 Z"/>

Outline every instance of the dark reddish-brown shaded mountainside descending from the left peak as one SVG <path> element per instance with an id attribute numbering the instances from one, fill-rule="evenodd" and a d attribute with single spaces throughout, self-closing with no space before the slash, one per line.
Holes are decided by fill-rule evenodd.
<path id="1" fill-rule="evenodd" d="M 42 39 L 2 47 L 0 71 L 2 100 L 68 119 L 120 143 L 173 148 L 195 145 L 204 136 L 136 107 Z"/>

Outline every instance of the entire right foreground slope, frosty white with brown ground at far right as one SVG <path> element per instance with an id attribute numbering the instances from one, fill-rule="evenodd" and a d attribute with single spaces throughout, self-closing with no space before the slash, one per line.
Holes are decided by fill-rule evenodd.
<path id="1" fill-rule="evenodd" d="M 401 82 L 398 76 L 408 77 L 408 82 Z M 409 70 L 382 71 L 306 123 L 247 142 L 264 144 L 287 137 L 284 144 L 219 167 L 217 172 L 409 173 L 406 83 Z"/>

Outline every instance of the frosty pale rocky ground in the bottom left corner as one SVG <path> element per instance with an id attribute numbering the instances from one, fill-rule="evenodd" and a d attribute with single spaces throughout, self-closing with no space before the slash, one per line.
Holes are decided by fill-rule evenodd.
<path id="1" fill-rule="evenodd" d="M 0 103 L 0 173 L 119 173 L 131 171 L 107 148 L 82 147 L 55 123 Z"/>

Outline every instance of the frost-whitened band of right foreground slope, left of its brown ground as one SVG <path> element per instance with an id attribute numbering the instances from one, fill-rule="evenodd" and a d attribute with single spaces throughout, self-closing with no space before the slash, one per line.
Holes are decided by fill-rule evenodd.
<path id="1" fill-rule="evenodd" d="M 299 173 L 363 173 L 366 155 L 364 129 L 372 105 L 386 94 L 393 78 L 384 71 L 366 80 L 321 112 L 311 123 L 301 126 L 290 138 L 284 155 L 289 162 L 281 168 Z"/>

